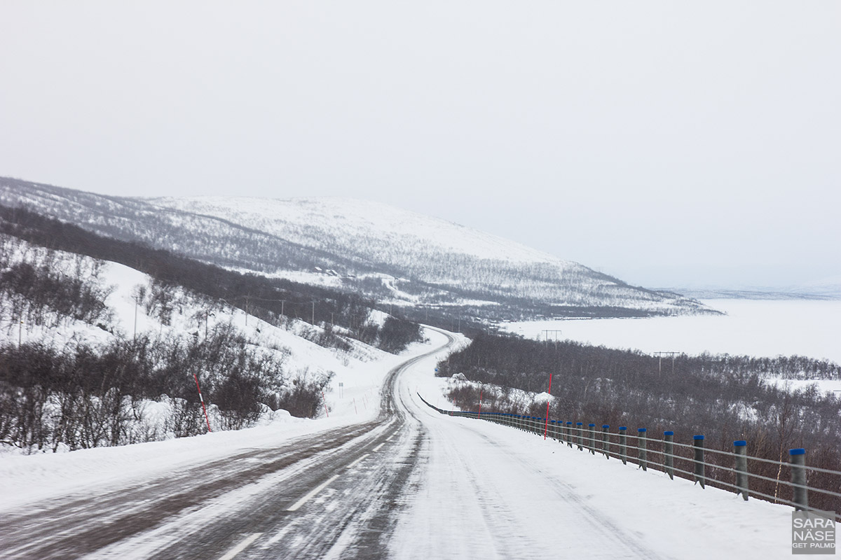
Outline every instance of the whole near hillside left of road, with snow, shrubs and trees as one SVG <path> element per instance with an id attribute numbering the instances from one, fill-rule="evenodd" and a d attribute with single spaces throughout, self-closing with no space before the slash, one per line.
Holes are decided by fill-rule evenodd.
<path id="1" fill-rule="evenodd" d="M 238 290 L 283 294 L 285 314 L 273 311 L 280 302 L 232 298 Z M 307 317 L 317 324 L 296 317 L 296 298 L 319 310 Z M 368 417 L 393 354 L 420 330 L 364 303 L 0 207 L 0 453 L 156 441 L 335 406 Z M 348 311 L 352 329 L 341 326 Z"/>

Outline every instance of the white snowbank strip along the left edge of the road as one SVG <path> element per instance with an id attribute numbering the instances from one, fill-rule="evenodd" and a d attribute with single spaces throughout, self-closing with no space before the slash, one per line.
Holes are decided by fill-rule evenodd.
<path id="1" fill-rule="evenodd" d="M 427 334 L 428 342 L 415 343 L 399 356 L 385 354 L 359 369 L 356 379 L 352 375 L 346 376 L 341 394 L 334 383 L 334 389 L 327 395 L 332 409 L 329 418 L 303 419 L 278 415 L 267 425 L 245 430 L 211 432 L 203 436 L 122 447 L 82 449 L 71 453 L 0 456 L 0 495 L 3 496 L 0 510 L 81 492 L 86 487 L 136 484 L 161 476 L 173 468 L 206 463 L 244 449 L 276 447 L 294 437 L 369 421 L 379 413 L 379 391 L 389 370 L 446 342 L 442 334 Z M 441 357 L 426 359 L 423 364 L 434 364 Z"/>

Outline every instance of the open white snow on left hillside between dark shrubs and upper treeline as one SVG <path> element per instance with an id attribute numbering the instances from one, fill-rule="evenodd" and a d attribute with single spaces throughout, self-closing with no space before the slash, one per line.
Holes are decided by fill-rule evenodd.
<path id="1" fill-rule="evenodd" d="M 334 374 L 326 390 L 329 413 L 349 416 L 353 421 L 362 421 L 378 413 L 378 389 L 384 374 L 394 366 L 396 356 L 368 346 L 353 338 L 346 338 L 348 349 L 325 348 L 314 342 L 323 329 L 296 319 L 286 317 L 279 324 L 270 324 L 246 317 L 241 309 L 214 301 L 200 294 L 174 289 L 172 316 L 167 322 L 155 314 L 149 314 L 145 305 L 136 305 L 135 296 L 140 288 L 150 290 L 153 279 L 123 264 L 91 259 L 79 254 L 45 249 L 17 238 L 0 235 L 0 249 L 3 262 L 8 265 L 28 263 L 36 268 L 49 266 L 56 274 L 68 277 L 74 271 L 83 275 L 95 275 L 95 280 L 108 293 L 100 326 L 74 320 L 71 317 L 49 315 L 40 322 L 20 322 L 13 311 L 14 298 L 8 300 L 0 294 L 0 344 L 15 346 L 18 343 L 41 343 L 50 348 L 74 348 L 76 344 L 100 347 L 114 339 L 131 340 L 148 335 L 153 340 L 182 341 L 182 348 L 193 338 L 204 338 L 207 332 L 214 332 L 217 326 L 229 325 L 238 332 L 252 348 L 267 355 L 278 364 L 283 364 L 288 381 L 293 379 L 317 379 Z M 2 268 L 2 267 L 0 267 Z M 374 322 L 383 322 L 383 313 L 374 311 Z M 104 324 L 103 324 L 104 323 Z M 341 384 L 341 390 L 340 390 Z M 157 401 L 147 401 L 142 422 L 162 432 L 167 406 Z M 215 414 L 217 409 L 210 403 L 211 425 L 219 428 Z M 328 412 L 320 411 L 324 416 Z M 286 411 L 268 411 L 262 422 L 301 422 Z M 10 451 L 8 447 L 4 450 Z"/>

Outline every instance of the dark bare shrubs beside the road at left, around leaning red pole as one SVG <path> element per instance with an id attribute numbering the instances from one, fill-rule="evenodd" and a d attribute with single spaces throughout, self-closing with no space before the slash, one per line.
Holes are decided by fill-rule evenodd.
<path id="1" fill-rule="evenodd" d="M 206 338 L 114 339 L 0 347 L 0 442 L 74 450 L 251 426 L 266 408 L 316 416 L 331 374 L 292 378 L 284 353 L 247 344 L 230 323 Z"/>

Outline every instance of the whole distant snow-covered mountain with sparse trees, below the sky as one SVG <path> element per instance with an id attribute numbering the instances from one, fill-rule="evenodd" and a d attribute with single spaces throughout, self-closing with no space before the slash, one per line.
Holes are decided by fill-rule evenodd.
<path id="1" fill-rule="evenodd" d="M 371 201 L 144 199 L 0 178 L 0 203 L 193 259 L 362 291 L 394 305 L 462 306 L 497 318 L 709 311 L 684 296 L 633 287 L 520 243 Z"/>

